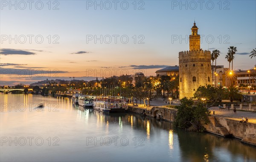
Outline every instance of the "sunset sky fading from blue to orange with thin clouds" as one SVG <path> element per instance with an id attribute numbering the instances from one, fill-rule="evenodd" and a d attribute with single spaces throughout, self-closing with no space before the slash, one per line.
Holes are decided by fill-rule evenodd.
<path id="1" fill-rule="evenodd" d="M 217 65 L 228 67 L 230 46 L 238 50 L 235 70 L 256 64 L 255 0 L 23 2 L 0 1 L 0 85 L 155 75 L 189 50 L 194 20 L 201 48 L 221 51 Z"/>

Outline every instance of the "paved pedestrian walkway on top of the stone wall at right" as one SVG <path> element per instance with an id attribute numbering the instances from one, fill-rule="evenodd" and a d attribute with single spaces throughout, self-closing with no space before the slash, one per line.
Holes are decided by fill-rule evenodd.
<path id="1" fill-rule="evenodd" d="M 239 111 L 236 109 L 236 113 L 234 113 L 233 109 L 230 111 L 227 108 L 219 109 L 218 106 L 209 108 L 210 111 L 215 111 L 215 115 L 219 115 L 221 117 L 226 117 L 228 119 L 241 120 L 242 117 L 247 117 L 248 122 L 256 123 L 256 112 L 253 111 Z M 213 112 L 212 112 L 213 114 Z"/>

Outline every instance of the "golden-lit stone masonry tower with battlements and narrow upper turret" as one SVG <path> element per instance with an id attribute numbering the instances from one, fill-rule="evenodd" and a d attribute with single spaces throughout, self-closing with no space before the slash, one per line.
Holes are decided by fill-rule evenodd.
<path id="1" fill-rule="evenodd" d="M 189 51 L 179 52 L 179 90 L 180 99 L 194 97 L 200 85 L 211 84 L 211 51 L 200 48 L 198 27 L 191 28 L 189 35 Z"/>

